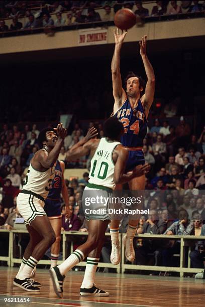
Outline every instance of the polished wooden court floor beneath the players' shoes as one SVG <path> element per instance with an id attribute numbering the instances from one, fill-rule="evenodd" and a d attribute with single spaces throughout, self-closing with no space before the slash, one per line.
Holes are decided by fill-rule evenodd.
<path id="1" fill-rule="evenodd" d="M 13 286 L 17 268 L 0 267 L 0 306 L 83 306 L 83 307 L 155 307 L 205 306 L 205 280 L 134 274 L 96 273 L 96 284 L 110 292 L 108 297 L 83 297 L 79 288 L 83 272 L 71 271 L 64 282 L 63 298 L 53 291 L 48 270 L 37 269 L 41 292 L 32 293 Z M 5 297 L 26 297 L 30 303 L 5 303 Z"/>

